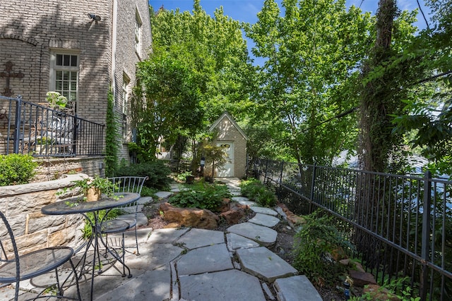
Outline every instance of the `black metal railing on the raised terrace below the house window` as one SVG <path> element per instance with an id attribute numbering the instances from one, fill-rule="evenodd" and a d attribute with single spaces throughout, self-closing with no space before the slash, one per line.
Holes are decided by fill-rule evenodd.
<path id="1" fill-rule="evenodd" d="M 104 125 L 21 97 L 0 96 L 0 154 L 97 156 L 104 154 Z"/>

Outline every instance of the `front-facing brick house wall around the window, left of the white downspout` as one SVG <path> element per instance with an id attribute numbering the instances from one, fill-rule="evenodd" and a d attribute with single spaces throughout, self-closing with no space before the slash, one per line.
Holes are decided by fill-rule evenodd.
<path id="1" fill-rule="evenodd" d="M 13 95 L 45 102 L 51 90 L 51 51 L 79 55 L 77 114 L 105 123 L 105 99 L 111 65 L 112 6 L 109 1 L 20 1 L 0 3 L 0 70 L 11 61 L 24 77 L 11 78 Z M 92 22 L 87 13 L 102 17 Z M 4 51 L 7 49 L 7 51 Z M 0 92 L 6 80 L 0 78 Z"/>

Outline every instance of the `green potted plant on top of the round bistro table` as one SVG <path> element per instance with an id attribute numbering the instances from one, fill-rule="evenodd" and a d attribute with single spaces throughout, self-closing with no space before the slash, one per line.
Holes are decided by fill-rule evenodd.
<path id="1" fill-rule="evenodd" d="M 83 193 L 83 199 L 87 202 L 98 201 L 102 194 L 107 195 L 107 197 L 113 197 L 114 192 L 118 188 L 118 184 L 114 184 L 107 178 L 102 178 L 100 176 L 73 180 L 72 183 L 74 183 L 74 185 L 69 189 L 78 189 Z"/>

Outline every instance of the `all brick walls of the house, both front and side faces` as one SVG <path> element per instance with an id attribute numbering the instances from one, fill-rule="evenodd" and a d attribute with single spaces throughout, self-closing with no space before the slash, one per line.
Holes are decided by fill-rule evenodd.
<path id="1" fill-rule="evenodd" d="M 101 20 L 91 20 L 88 13 L 100 16 Z M 138 52 L 135 51 L 136 16 L 142 21 Z M 11 62 L 13 72 L 23 74 L 22 78 L 9 78 L 11 97 L 22 95 L 28 102 L 45 102 L 45 94 L 53 90 L 52 51 L 76 54 L 76 113 L 89 121 L 105 124 L 110 85 L 114 87 L 116 110 L 122 113 L 124 74 L 129 78 L 127 90 L 131 94 L 136 84 L 136 62 L 147 57 L 150 44 L 145 0 L 0 1 L 0 73 L 6 72 L 5 63 Z M 6 95 L 5 91 L 3 76 L 0 94 Z M 126 140 L 130 140 L 130 135 Z M 120 155 L 127 159 L 129 154 L 121 143 L 126 140 L 119 137 L 118 142 Z"/>

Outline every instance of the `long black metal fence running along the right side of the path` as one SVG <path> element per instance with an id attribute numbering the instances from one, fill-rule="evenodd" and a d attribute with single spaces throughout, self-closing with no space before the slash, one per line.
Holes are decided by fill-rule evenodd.
<path id="1" fill-rule="evenodd" d="M 452 181 L 266 159 L 250 166 L 296 214 L 336 216 L 380 283 L 408 276 L 421 300 L 452 300 Z"/>

